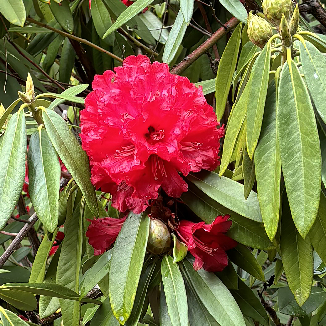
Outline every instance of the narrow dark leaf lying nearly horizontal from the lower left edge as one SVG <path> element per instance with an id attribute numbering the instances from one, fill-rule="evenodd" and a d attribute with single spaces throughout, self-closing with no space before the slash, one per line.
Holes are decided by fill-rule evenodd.
<path id="1" fill-rule="evenodd" d="M 19 290 L 25 293 L 47 295 L 56 298 L 79 301 L 79 294 L 59 284 L 51 283 L 6 283 L 0 286 L 2 289 Z"/>

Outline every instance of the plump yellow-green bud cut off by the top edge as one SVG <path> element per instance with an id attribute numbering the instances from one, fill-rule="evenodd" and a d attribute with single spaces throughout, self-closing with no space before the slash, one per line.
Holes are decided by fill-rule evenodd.
<path id="1" fill-rule="evenodd" d="M 281 23 L 282 14 L 289 22 L 293 12 L 291 0 L 263 0 L 262 7 L 266 19 L 277 29 Z"/>

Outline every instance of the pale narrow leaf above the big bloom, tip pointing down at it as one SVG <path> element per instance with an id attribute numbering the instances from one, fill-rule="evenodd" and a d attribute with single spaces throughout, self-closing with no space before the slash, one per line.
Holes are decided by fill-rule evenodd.
<path id="1" fill-rule="evenodd" d="M 168 40 L 165 43 L 162 57 L 163 62 L 170 64 L 170 62 L 173 60 L 175 54 L 178 52 L 183 37 L 185 36 L 186 29 L 187 24 L 185 22 L 181 10 L 179 10 L 178 15 L 169 33 Z"/>

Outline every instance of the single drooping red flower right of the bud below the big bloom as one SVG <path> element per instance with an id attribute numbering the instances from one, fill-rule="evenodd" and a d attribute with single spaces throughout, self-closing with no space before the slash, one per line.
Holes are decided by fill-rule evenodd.
<path id="1" fill-rule="evenodd" d="M 221 272 L 228 265 L 225 251 L 237 245 L 236 241 L 225 235 L 232 224 L 232 221 L 228 221 L 229 217 L 219 215 L 212 224 L 180 221 L 176 233 L 195 257 L 196 271 L 203 267 L 207 272 Z"/>

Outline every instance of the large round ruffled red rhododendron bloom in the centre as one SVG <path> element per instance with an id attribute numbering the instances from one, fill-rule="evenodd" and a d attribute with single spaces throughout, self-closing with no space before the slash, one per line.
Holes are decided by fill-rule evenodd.
<path id="1" fill-rule="evenodd" d="M 112 206 L 140 213 L 158 189 L 180 197 L 178 172 L 214 170 L 224 134 L 201 87 L 144 55 L 127 57 L 115 73 L 96 75 L 81 111 L 82 148 L 91 180 L 112 194 Z"/>

